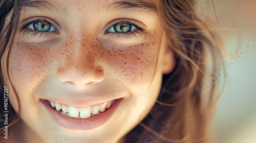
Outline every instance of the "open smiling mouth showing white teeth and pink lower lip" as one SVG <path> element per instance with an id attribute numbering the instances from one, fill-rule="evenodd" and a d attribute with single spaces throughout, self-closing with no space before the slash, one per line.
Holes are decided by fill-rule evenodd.
<path id="1" fill-rule="evenodd" d="M 112 118 L 123 98 L 91 106 L 70 106 L 40 99 L 55 123 L 71 130 L 91 130 Z"/>

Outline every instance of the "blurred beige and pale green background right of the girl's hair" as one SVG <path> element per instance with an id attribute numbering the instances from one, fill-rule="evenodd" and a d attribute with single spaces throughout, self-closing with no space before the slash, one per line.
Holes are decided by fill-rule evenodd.
<path id="1" fill-rule="evenodd" d="M 215 22 L 218 18 L 217 30 L 228 52 L 226 85 L 211 128 L 214 142 L 255 143 L 256 1 L 196 0 L 194 7 Z"/>

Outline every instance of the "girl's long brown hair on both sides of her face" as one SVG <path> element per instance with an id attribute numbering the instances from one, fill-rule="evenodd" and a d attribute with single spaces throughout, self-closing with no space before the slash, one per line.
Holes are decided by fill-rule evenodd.
<path id="1" fill-rule="evenodd" d="M 17 20 L 11 20 L 6 29 L 4 23 L 11 9 L 16 11 L 17 3 L 16 0 L 5 0 L 0 3 L 1 59 L 7 44 L 12 39 L 11 33 L 16 28 Z M 206 25 L 205 20 L 197 16 L 188 1 L 160 0 L 157 10 L 165 33 L 169 37 L 169 48 L 174 51 L 176 66 L 172 73 L 163 76 L 162 88 L 151 112 L 140 125 L 126 135 L 125 141 L 210 142 L 208 127 L 210 110 L 217 101 L 214 96 L 217 82 L 212 83 L 211 88 L 206 89 L 207 92 L 202 92 L 205 84 L 203 80 L 207 76 L 216 80 L 214 74 L 219 69 L 215 63 L 211 71 L 206 70 L 205 56 L 210 55 L 212 61 L 221 59 L 221 40 Z M 15 16 L 18 15 L 12 15 L 11 19 Z M 4 99 L 2 69 L 1 85 L 1 98 Z M 203 101 L 204 98 L 207 98 L 207 101 Z M 203 106 L 204 102 L 207 102 L 207 106 Z M 13 111 L 13 114 L 9 118 L 8 127 L 19 120 L 18 113 L 9 108 L 8 110 Z M 1 108 L 0 112 L 3 113 L 3 110 L 4 108 Z"/>

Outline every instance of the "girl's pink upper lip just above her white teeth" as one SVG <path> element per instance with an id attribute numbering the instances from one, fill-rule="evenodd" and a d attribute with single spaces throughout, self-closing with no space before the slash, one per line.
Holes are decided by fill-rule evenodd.
<path id="1" fill-rule="evenodd" d="M 41 98 L 41 99 L 49 100 L 52 102 L 57 102 L 60 104 L 70 105 L 70 106 L 91 106 L 91 105 L 96 105 L 96 104 L 116 100 L 116 99 L 112 99 L 112 100 L 90 99 L 90 100 L 88 100 L 88 99 L 74 99 L 74 98 Z"/>

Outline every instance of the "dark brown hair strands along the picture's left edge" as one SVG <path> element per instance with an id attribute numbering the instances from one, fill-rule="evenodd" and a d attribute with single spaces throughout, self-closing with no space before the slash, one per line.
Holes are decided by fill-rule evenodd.
<path id="1" fill-rule="evenodd" d="M 9 0 L 3 0 L 0 2 L 0 58 L 1 58 L 1 63 L 0 63 L 0 94 L 1 94 L 1 99 L 2 101 L 4 101 L 4 80 L 3 80 L 3 69 L 2 69 L 2 58 L 5 52 L 8 53 L 8 58 L 7 58 L 7 63 L 9 63 L 9 54 L 10 54 L 10 49 L 7 49 L 7 46 L 10 45 L 9 43 L 12 43 L 13 40 L 13 34 L 12 32 L 15 31 L 16 29 L 16 25 L 17 25 L 17 19 L 18 19 L 18 14 L 19 11 L 17 9 L 18 7 L 18 1 L 9 1 Z M 15 10 L 15 11 L 12 11 Z M 8 18 L 9 17 L 9 18 Z M 7 64 L 7 73 L 8 73 L 8 68 L 9 65 Z M 9 79 L 9 75 L 7 77 Z M 13 88 L 13 85 L 11 83 L 11 86 Z M 19 97 L 17 96 L 16 90 L 14 89 L 14 94 L 17 98 L 17 100 L 19 101 Z M 18 109 L 20 109 L 20 104 L 18 103 Z M 16 113 L 16 111 L 12 108 L 9 100 L 8 100 L 8 106 L 7 106 L 7 110 L 9 111 L 8 113 L 8 125 L 4 125 L 4 121 L 0 122 L 0 140 L 3 137 L 3 133 L 4 133 L 4 129 L 5 126 L 8 126 L 8 131 L 9 134 L 8 135 L 12 135 L 12 133 L 14 133 L 12 130 L 14 130 L 14 128 L 10 128 L 13 125 L 15 125 L 16 123 L 18 123 L 20 121 L 20 117 L 18 116 L 20 110 Z M 1 103 L 1 108 L 0 108 L 0 115 L 1 118 L 4 117 L 2 115 L 2 113 L 4 113 L 5 108 L 4 108 L 4 102 Z"/>

